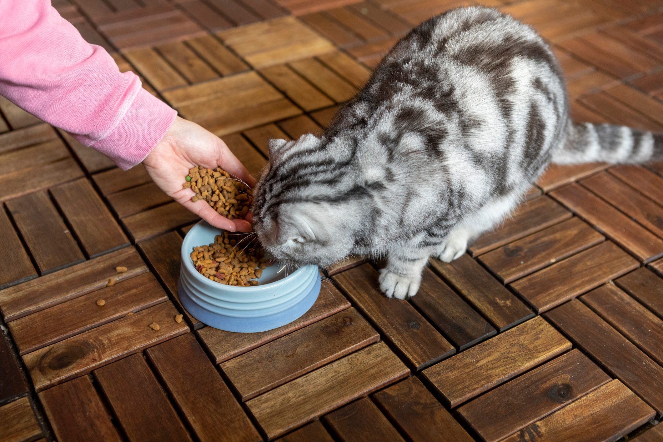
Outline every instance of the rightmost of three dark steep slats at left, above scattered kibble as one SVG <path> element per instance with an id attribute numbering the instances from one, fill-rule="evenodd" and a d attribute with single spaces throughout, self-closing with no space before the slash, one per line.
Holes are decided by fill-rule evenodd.
<path id="1" fill-rule="evenodd" d="M 63 184 L 50 192 L 90 258 L 129 244 L 88 180 Z"/>

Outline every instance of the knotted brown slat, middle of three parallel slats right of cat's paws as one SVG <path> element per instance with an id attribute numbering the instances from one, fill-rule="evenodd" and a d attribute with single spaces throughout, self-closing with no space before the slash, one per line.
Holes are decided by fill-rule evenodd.
<path id="1" fill-rule="evenodd" d="M 572 254 L 601 243 L 605 237 L 577 217 L 482 254 L 479 260 L 505 284 Z"/>

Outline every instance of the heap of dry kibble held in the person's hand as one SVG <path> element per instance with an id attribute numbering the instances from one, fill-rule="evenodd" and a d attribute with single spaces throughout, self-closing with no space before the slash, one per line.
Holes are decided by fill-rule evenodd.
<path id="1" fill-rule="evenodd" d="M 215 170 L 202 166 L 192 168 L 182 187 L 196 192 L 191 201 L 195 203 L 198 199 L 204 199 L 227 219 L 245 217 L 253 201 L 253 192 L 249 186 L 230 178 L 228 172 L 218 167 Z"/>

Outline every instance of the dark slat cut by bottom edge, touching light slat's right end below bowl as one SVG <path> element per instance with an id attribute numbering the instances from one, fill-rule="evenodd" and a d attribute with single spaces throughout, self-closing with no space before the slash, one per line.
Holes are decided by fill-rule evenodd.
<path id="1" fill-rule="evenodd" d="M 373 398 L 413 442 L 473 440 L 414 376 L 375 393 Z"/>

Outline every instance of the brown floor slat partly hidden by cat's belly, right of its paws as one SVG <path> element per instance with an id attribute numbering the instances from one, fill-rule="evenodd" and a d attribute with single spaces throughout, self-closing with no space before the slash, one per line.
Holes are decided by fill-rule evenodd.
<path id="1" fill-rule="evenodd" d="M 481 235 L 469 246 L 469 251 L 473 256 L 477 256 L 560 223 L 571 216 L 568 210 L 547 196 L 534 198 L 519 205 L 511 217 L 499 227 Z"/>

